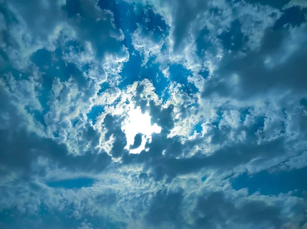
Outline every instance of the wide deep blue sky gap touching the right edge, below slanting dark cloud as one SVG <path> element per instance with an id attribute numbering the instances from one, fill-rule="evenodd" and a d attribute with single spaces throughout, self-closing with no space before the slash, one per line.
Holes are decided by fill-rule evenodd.
<path id="1" fill-rule="evenodd" d="M 258 191 L 263 195 L 278 195 L 297 189 L 298 191 L 293 195 L 301 197 L 302 191 L 307 190 L 307 167 L 277 173 L 268 171 L 261 171 L 253 175 L 243 173 L 230 181 L 235 190 L 248 188 L 250 194 Z"/>

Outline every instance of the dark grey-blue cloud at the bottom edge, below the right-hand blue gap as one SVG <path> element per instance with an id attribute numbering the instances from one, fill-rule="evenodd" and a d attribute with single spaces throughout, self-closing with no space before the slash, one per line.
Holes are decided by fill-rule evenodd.
<path id="1" fill-rule="evenodd" d="M 231 228 L 235 225 L 280 228 L 283 220 L 276 206 L 262 200 L 246 200 L 235 204 L 235 200 L 227 199 L 223 192 L 199 197 L 194 211 L 196 228 Z"/>

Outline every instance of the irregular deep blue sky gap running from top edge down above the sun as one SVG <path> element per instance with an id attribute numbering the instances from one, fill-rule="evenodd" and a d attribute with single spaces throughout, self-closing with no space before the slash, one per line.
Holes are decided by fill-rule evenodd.
<path id="1" fill-rule="evenodd" d="M 162 96 L 163 90 L 168 85 L 167 79 L 159 70 L 159 64 L 154 63 L 154 57 L 149 58 L 146 66 L 142 66 L 143 57 L 134 49 L 130 34 L 138 28 L 138 23 L 141 25 L 143 33 L 153 32 L 153 37 L 160 39 L 161 34 L 168 29 L 165 21 L 148 6 L 142 7 L 141 5 L 128 4 L 124 1 L 99 1 L 98 5 L 102 9 L 108 9 L 113 12 L 114 23 L 116 27 L 122 29 L 125 35 L 123 44 L 128 48 L 130 54 L 129 61 L 124 63 L 122 68 L 122 82 L 118 87 L 123 89 L 135 81 L 149 79 L 156 87 L 156 93 Z M 103 90 L 105 89 L 101 89 L 101 91 Z"/>

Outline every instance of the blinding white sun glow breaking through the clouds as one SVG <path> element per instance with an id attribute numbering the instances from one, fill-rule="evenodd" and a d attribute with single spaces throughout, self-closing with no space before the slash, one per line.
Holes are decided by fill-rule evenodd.
<path id="1" fill-rule="evenodd" d="M 122 130 L 125 132 L 127 138 L 126 149 L 129 149 L 129 146 L 134 144 L 136 134 L 143 134 L 141 146 L 137 149 L 130 150 L 130 153 L 140 153 L 145 149 L 146 141 L 151 138 L 151 134 L 153 132 L 160 133 L 161 127 L 156 123 L 151 125 L 149 113 L 145 112 L 143 114 L 140 107 L 137 107 L 136 109 L 131 108 L 128 111 L 128 116 L 124 121 Z"/>

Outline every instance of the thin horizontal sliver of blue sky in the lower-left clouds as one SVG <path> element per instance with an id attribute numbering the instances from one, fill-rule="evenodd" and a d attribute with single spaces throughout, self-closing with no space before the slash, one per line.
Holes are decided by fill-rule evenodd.
<path id="1" fill-rule="evenodd" d="M 48 181 L 46 184 L 52 188 L 80 189 L 82 187 L 91 187 L 94 182 L 95 180 L 92 178 L 76 178 Z"/>

